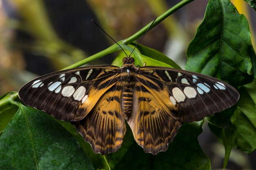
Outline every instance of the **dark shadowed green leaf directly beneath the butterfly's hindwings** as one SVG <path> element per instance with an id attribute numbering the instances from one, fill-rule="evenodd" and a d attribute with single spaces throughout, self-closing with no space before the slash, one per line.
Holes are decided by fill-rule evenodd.
<path id="1" fill-rule="evenodd" d="M 128 129 L 123 146 L 117 153 L 106 155 L 106 160 L 113 170 L 210 170 L 209 158 L 202 152 L 197 140 L 202 132 L 202 123 L 203 121 L 185 123 L 180 127 L 173 142 L 168 145 L 168 150 L 157 155 L 144 153 L 143 149 L 134 142 L 132 133 Z"/>

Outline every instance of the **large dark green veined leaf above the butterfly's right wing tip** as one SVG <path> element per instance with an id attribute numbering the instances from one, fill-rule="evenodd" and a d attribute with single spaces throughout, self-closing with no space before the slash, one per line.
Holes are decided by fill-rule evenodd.
<path id="1" fill-rule="evenodd" d="M 210 0 L 204 20 L 189 44 L 186 70 L 215 76 L 236 87 L 250 83 L 251 48 L 245 16 L 229 0 Z"/>

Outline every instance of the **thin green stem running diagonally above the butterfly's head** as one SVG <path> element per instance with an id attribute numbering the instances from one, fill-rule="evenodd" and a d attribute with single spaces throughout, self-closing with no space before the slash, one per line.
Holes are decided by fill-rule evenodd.
<path id="1" fill-rule="evenodd" d="M 166 17 L 168 17 L 169 15 L 171 15 L 172 13 L 174 13 L 175 11 L 177 11 L 178 9 L 182 8 L 183 6 L 185 6 L 186 4 L 189 4 L 190 2 L 192 2 L 194 0 L 183 0 L 179 3 L 177 3 L 175 6 L 173 6 L 171 9 L 169 9 L 168 11 L 166 11 L 165 13 L 163 13 L 162 15 L 160 15 L 159 17 L 157 17 L 157 20 L 155 20 L 154 24 L 150 27 L 150 29 L 152 29 L 153 27 L 155 27 L 157 24 L 159 24 L 160 22 L 162 22 Z M 130 44 L 131 42 L 135 41 L 136 39 L 138 39 L 141 35 L 143 35 L 146 30 L 148 29 L 148 27 L 150 26 L 151 22 L 149 24 L 147 24 L 146 26 L 144 26 L 141 30 L 139 30 L 137 33 L 133 34 L 132 36 L 128 37 L 127 39 L 118 41 L 117 43 L 122 46 L 124 44 Z M 94 61 L 96 59 L 101 58 L 102 56 L 106 55 L 106 54 L 110 54 L 111 52 L 115 52 L 117 50 L 120 50 L 120 47 L 117 44 L 113 44 L 112 46 L 106 48 L 105 50 L 98 52 L 86 59 L 83 59 L 77 63 L 74 63 L 66 68 L 63 68 L 62 70 L 66 70 L 66 69 L 70 69 L 70 68 L 76 68 L 79 67 L 83 64 L 86 64 L 90 61 Z"/>

